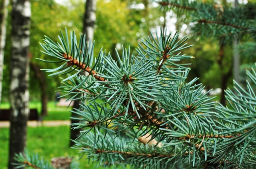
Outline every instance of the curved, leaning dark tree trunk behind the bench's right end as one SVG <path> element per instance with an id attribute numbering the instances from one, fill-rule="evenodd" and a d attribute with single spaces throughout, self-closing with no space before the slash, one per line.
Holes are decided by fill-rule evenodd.
<path id="1" fill-rule="evenodd" d="M 38 79 L 39 85 L 40 85 L 40 89 L 41 89 L 41 116 L 45 116 L 48 115 L 47 112 L 47 82 L 46 82 L 46 78 L 45 78 L 45 74 L 43 71 L 41 71 L 40 66 L 30 62 L 30 67 L 32 68 L 32 70 L 35 72 L 35 76 Z"/>

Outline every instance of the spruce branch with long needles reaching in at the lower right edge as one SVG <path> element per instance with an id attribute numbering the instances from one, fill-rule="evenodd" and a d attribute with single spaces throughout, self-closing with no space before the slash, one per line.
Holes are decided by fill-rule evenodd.
<path id="1" fill-rule="evenodd" d="M 256 95 L 253 85 L 256 84 L 256 72 L 247 72 L 247 89 L 243 89 L 235 83 L 235 94 L 232 90 L 226 91 L 226 99 L 230 103 L 229 107 L 219 105 L 218 129 L 220 134 L 236 135 L 231 139 L 218 144 L 215 155 L 217 159 L 227 156 L 228 161 L 250 167 L 255 165 L 255 145 L 256 145 L 256 120 L 255 101 Z"/>

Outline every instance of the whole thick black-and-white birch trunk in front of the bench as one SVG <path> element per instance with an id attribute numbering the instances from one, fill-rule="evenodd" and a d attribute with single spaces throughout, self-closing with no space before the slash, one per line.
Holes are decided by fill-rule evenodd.
<path id="1" fill-rule="evenodd" d="M 26 146 L 29 115 L 29 0 L 12 0 L 12 56 L 10 65 L 9 169 L 14 169 L 16 153 Z"/>

